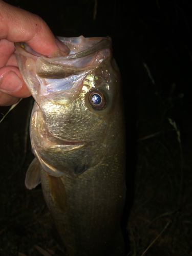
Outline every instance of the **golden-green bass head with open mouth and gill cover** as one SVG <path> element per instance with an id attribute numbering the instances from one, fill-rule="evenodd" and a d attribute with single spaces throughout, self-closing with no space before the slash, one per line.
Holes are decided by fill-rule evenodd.
<path id="1" fill-rule="evenodd" d="M 42 56 L 17 43 L 16 58 L 35 99 L 33 153 L 50 175 L 75 178 L 102 162 L 117 132 L 120 73 L 110 37 L 59 39 L 66 56 Z"/>

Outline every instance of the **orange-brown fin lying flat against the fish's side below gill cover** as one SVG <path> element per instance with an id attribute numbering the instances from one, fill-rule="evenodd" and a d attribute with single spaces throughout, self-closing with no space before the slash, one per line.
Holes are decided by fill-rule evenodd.
<path id="1" fill-rule="evenodd" d="M 55 203 L 57 209 L 60 211 L 65 211 L 67 206 L 67 197 L 65 186 L 63 185 L 61 178 L 54 177 L 47 174 L 49 181 L 49 188 L 53 202 Z"/>

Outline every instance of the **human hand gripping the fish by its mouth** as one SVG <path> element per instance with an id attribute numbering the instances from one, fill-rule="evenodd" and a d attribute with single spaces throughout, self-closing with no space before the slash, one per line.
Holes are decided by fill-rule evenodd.
<path id="1" fill-rule="evenodd" d="M 35 52 L 51 55 L 66 47 L 39 16 L 0 0 L 0 105 L 15 104 L 30 96 L 15 58 L 14 42 L 26 42 Z"/>

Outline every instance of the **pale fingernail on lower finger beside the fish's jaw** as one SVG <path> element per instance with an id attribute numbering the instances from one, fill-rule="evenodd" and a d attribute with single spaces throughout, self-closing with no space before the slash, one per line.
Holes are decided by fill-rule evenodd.
<path id="1" fill-rule="evenodd" d="M 5 73 L 0 78 L 0 91 L 3 92 L 16 92 L 22 87 L 22 81 L 13 71 Z"/>

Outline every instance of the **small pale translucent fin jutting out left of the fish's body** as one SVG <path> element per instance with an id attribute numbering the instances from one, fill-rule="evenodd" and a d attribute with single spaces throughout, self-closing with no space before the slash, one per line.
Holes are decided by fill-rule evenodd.
<path id="1" fill-rule="evenodd" d="M 27 170 L 25 185 L 28 189 L 32 189 L 38 184 L 40 184 L 40 166 L 37 159 L 34 158 Z"/>

